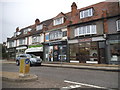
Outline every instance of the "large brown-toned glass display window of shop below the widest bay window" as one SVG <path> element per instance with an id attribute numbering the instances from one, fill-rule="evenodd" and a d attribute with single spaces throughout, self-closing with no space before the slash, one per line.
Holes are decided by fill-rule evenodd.
<path id="1" fill-rule="evenodd" d="M 81 42 L 70 45 L 70 60 L 80 63 L 98 63 L 97 42 Z"/>

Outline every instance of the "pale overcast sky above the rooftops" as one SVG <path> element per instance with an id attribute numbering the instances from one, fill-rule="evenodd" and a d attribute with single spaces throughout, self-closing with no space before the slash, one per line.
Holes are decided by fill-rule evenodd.
<path id="1" fill-rule="evenodd" d="M 79 9 L 101 1 L 105 0 L 0 0 L 0 43 L 13 36 L 16 27 L 32 25 L 36 18 L 44 21 L 70 12 L 72 2 Z"/>

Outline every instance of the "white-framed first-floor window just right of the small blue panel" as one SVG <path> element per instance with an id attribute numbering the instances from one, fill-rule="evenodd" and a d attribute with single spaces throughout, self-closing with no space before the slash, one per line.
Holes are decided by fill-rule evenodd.
<path id="1" fill-rule="evenodd" d="M 52 31 L 49 33 L 49 39 L 50 40 L 55 40 L 55 39 L 61 39 L 63 36 L 62 31 Z"/>

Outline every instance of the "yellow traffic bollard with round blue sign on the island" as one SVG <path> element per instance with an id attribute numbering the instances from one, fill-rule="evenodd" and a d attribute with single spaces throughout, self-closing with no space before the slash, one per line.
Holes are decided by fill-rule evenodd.
<path id="1" fill-rule="evenodd" d="M 20 59 L 19 76 L 20 77 L 28 76 L 29 71 L 30 71 L 30 59 L 28 58 Z"/>

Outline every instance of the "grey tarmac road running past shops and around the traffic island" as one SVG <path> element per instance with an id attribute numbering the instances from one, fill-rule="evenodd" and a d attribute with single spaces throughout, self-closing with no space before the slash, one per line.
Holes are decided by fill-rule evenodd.
<path id="1" fill-rule="evenodd" d="M 3 64 L 3 71 L 18 72 L 15 64 Z M 33 66 L 30 73 L 39 77 L 36 82 L 9 83 L 3 81 L 4 88 L 62 88 L 69 85 L 84 87 L 118 88 L 118 72 L 97 70 Z M 45 84 L 46 83 L 46 84 Z"/>

